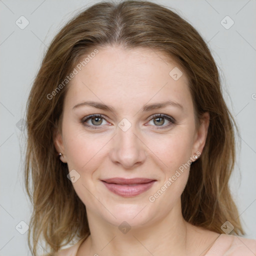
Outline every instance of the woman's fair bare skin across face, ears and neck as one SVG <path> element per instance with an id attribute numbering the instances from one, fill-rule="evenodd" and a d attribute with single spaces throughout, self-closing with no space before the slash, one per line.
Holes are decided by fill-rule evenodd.
<path id="1" fill-rule="evenodd" d="M 75 169 L 80 175 L 72 185 L 86 206 L 91 234 L 77 256 L 204 255 L 218 237 L 182 217 L 180 198 L 190 165 L 158 198 L 148 199 L 182 164 L 202 152 L 207 136 L 209 114 L 203 114 L 196 129 L 188 79 L 182 71 L 174 80 L 169 75 L 174 67 L 178 65 L 171 59 L 167 62 L 162 52 L 107 46 L 72 78 L 64 100 L 62 131 L 54 145 L 69 171 Z M 115 112 L 88 105 L 72 109 L 87 100 L 109 105 Z M 141 110 L 144 104 L 166 100 L 183 108 Z M 176 123 L 167 126 L 170 121 L 164 118 L 157 125 L 157 117 L 151 116 L 161 113 Z M 90 114 L 103 115 L 102 122 L 100 118 L 86 121 L 97 129 L 81 123 Z M 118 126 L 123 118 L 131 124 L 126 131 Z M 156 181 L 149 190 L 124 198 L 100 181 L 111 177 Z M 127 233 L 118 229 L 123 221 L 131 227 Z"/>

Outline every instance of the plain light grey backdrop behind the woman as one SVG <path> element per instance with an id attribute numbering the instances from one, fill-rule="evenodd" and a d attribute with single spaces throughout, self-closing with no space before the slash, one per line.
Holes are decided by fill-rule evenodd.
<path id="1" fill-rule="evenodd" d="M 31 204 L 23 184 L 25 103 L 44 51 L 79 9 L 98 1 L 0 0 L 0 255 L 28 255 Z M 240 129 L 230 187 L 245 237 L 256 239 L 256 1 L 155 0 L 174 8 L 207 42 Z M 22 22 L 20 22 L 20 16 Z M 228 16 L 228 17 L 227 17 Z M 28 21 L 26 21 L 28 20 Z M 18 25 L 19 21 L 19 25 Z M 23 29 L 20 26 L 26 25 Z M 22 23 L 22 24 L 21 24 Z M 238 216 L 237 216 L 238 217 Z M 20 222 L 24 221 L 24 222 Z M 20 231 L 20 230 L 21 231 Z"/>

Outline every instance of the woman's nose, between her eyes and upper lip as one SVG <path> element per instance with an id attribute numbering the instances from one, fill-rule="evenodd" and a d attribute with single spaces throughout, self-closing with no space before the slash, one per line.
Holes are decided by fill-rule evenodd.
<path id="1" fill-rule="evenodd" d="M 125 169 L 132 169 L 145 161 L 146 146 L 133 126 L 126 131 L 117 127 L 116 135 L 112 139 L 109 156 L 113 163 Z"/>

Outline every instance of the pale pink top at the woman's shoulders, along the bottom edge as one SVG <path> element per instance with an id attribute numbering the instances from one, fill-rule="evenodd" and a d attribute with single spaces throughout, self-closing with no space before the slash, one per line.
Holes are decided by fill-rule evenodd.
<path id="1" fill-rule="evenodd" d="M 56 256 L 76 256 L 84 239 L 76 244 L 60 250 Z M 231 234 L 220 234 L 211 245 L 205 256 L 255 256 L 256 240 Z"/>

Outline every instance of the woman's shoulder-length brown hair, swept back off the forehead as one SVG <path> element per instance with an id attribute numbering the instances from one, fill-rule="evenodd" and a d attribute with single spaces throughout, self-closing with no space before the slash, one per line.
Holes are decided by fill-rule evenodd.
<path id="1" fill-rule="evenodd" d="M 187 21 L 162 5 L 149 1 L 100 2 L 81 11 L 58 32 L 28 97 L 25 187 L 33 204 L 28 231 L 33 255 L 37 256 L 40 235 L 54 252 L 74 237 L 90 233 L 85 206 L 66 177 L 67 164 L 59 160 L 53 144 L 56 130 L 61 131 L 63 99 L 69 84 L 50 99 L 47 95 L 52 95 L 84 54 L 106 45 L 160 50 L 185 70 L 197 127 L 206 111 L 210 123 L 203 152 L 191 164 L 181 195 L 183 217 L 218 233 L 228 220 L 234 226 L 233 233 L 244 234 L 228 187 L 237 126 L 223 100 L 218 70 L 206 43 Z"/>

